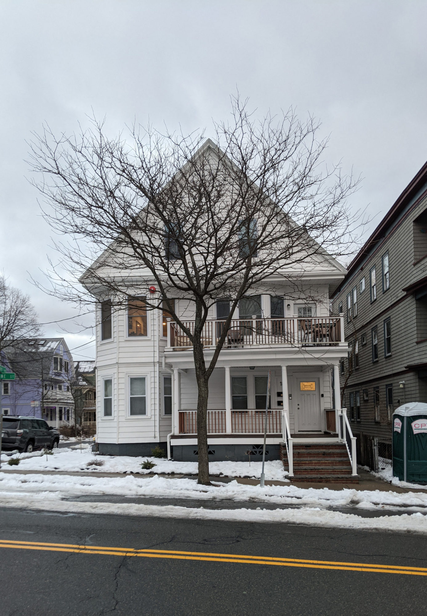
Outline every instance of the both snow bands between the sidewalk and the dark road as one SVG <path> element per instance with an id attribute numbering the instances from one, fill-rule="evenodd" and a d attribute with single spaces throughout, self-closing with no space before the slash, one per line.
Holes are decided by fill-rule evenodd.
<path id="1" fill-rule="evenodd" d="M 302 489 L 295 485 L 266 486 L 239 484 L 236 480 L 213 486 L 198 485 L 193 479 L 167 477 L 74 477 L 41 474 L 0 473 L 0 502 L 5 507 L 28 508 L 87 514 L 122 514 L 131 516 L 180 517 L 229 520 L 239 522 L 290 522 L 348 529 L 412 531 L 427 534 L 427 494 L 375 491 Z M 135 503 L 76 502 L 65 500 L 78 496 L 156 496 L 169 498 L 170 505 Z M 209 509 L 174 505 L 178 498 L 206 501 L 252 501 L 256 509 Z M 63 500 L 64 499 L 64 500 Z M 285 506 L 264 509 L 265 503 Z M 292 505 L 293 508 L 289 508 Z M 286 506 L 288 506 L 286 508 Z M 404 507 L 402 516 L 367 518 L 341 513 L 331 508 L 351 506 L 357 509 L 396 509 Z M 402 509 L 400 509 L 402 511 Z M 420 512 L 423 513 L 420 513 Z"/>

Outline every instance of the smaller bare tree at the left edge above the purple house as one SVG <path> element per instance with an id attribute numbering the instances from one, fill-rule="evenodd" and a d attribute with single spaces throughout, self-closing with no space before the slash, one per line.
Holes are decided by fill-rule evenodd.
<path id="1" fill-rule="evenodd" d="M 28 295 L 7 285 L 0 276 L 0 363 L 2 354 L 20 345 L 27 338 L 41 333 L 36 311 Z"/>

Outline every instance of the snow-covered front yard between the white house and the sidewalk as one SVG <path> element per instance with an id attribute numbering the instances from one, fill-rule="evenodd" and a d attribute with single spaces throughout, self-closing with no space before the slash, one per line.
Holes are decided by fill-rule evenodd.
<path id="1" fill-rule="evenodd" d="M 14 457 L 18 457 L 15 455 Z M 15 469 L 25 471 L 90 471 L 94 474 L 98 472 L 139 472 L 141 474 L 164 473 L 164 474 L 185 474 L 196 475 L 198 472 L 197 462 L 174 462 L 164 458 L 134 458 L 131 456 L 100 456 L 94 455 L 89 444 L 74 445 L 74 447 L 64 447 L 55 449 L 53 455 L 41 455 L 41 452 L 22 453 L 19 466 Z M 7 462 L 10 456 L 2 454 L 1 462 Z M 145 460 L 150 460 L 156 466 L 153 469 L 142 469 L 141 464 Z M 91 461 L 103 462 L 102 466 L 90 464 Z M 210 462 L 209 472 L 211 475 L 226 477 L 253 477 L 259 479 L 261 476 L 261 462 Z M 7 466 L 7 468 L 10 468 Z M 287 472 L 283 468 L 280 460 L 267 461 L 265 463 L 265 478 L 268 480 L 286 479 Z"/>

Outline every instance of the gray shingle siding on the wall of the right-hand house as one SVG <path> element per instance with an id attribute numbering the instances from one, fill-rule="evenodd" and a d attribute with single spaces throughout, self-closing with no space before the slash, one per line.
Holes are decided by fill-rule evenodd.
<path id="1" fill-rule="evenodd" d="M 412 191 L 414 192 L 414 191 Z M 404 195 L 404 193 L 402 193 Z M 401 195 L 401 197 L 402 197 Z M 396 205 L 397 204 L 397 205 Z M 394 219 L 381 229 L 380 237 L 371 237 L 361 253 L 354 259 L 357 267 L 349 266 L 349 273 L 335 291 L 333 296 L 333 311 L 338 312 L 340 302 L 343 302 L 343 312 L 346 315 L 346 297 L 356 286 L 357 316 L 352 313 L 351 322 L 345 318 L 346 340 L 354 338 L 358 341 L 359 368 L 354 369 L 345 387 L 344 406 L 349 407 L 349 393 L 360 392 L 361 408 L 360 422 L 354 421 L 354 432 L 361 432 L 380 440 L 391 439 L 391 413 L 399 403 L 420 401 L 427 402 L 427 379 L 423 373 L 415 370 L 413 365 L 427 363 L 427 302 L 417 301 L 411 291 L 404 289 L 427 277 L 427 233 L 422 225 L 414 221 L 423 211 L 427 211 L 427 182 L 425 176 L 417 187 L 415 195 L 393 208 L 401 208 Z M 384 219 L 393 214 L 393 208 Z M 426 228 L 427 232 L 427 228 Z M 420 238 L 420 236 L 422 237 Z M 368 249 L 369 246 L 369 249 Z M 423 246 L 426 246 L 423 256 Z M 383 256 L 388 253 L 389 288 L 383 289 Z M 361 257 L 364 254 L 364 258 Z M 418 261 L 418 262 L 417 262 Z M 371 301 L 370 270 L 375 265 L 377 299 Z M 361 293 L 360 281 L 365 277 L 365 290 Z M 427 285 L 426 285 L 427 288 Z M 353 305 L 352 305 L 353 309 Z M 385 356 L 384 322 L 390 320 L 391 354 Z M 372 328 L 377 328 L 378 360 L 372 360 Z M 362 335 L 366 336 L 366 344 L 362 346 Z M 345 360 L 346 368 L 348 361 Z M 426 372 L 427 376 L 427 372 Z M 345 377 L 341 376 L 341 391 Z M 399 387 L 399 382 L 405 381 L 405 387 Z M 386 386 L 393 386 L 393 408 L 388 413 L 386 404 Z M 379 388 L 380 413 L 379 421 L 375 420 L 373 389 Z M 363 392 L 367 390 L 368 400 L 364 400 Z M 378 419 L 378 418 L 377 418 Z"/>

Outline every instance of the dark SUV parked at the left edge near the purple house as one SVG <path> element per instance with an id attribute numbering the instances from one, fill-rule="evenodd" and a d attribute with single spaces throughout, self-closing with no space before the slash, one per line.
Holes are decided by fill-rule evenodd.
<path id="1" fill-rule="evenodd" d="M 58 447 L 59 432 L 48 426 L 44 419 L 3 415 L 1 448 L 17 449 L 19 452 L 32 452 L 34 449 Z"/>

